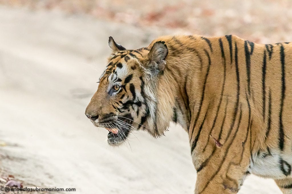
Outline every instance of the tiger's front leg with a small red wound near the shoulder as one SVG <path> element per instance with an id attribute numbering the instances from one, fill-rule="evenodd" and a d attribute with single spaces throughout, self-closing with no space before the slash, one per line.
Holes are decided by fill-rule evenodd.
<path id="1" fill-rule="evenodd" d="M 213 138 L 209 140 L 209 147 L 212 148 L 208 152 L 194 150 L 192 156 L 197 170 L 196 194 L 237 193 L 246 175 L 250 174 L 251 130 L 249 122 L 240 120 L 241 117 L 237 126 L 230 131 L 229 138 L 219 142 L 217 135 L 212 135 Z"/>

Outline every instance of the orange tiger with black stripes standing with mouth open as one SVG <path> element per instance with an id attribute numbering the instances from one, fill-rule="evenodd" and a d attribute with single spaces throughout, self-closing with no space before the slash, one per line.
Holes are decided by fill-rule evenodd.
<path id="1" fill-rule="evenodd" d="M 112 50 L 85 114 L 118 146 L 131 131 L 189 136 L 194 193 L 237 193 L 254 174 L 292 193 L 292 44 L 162 36 Z"/>

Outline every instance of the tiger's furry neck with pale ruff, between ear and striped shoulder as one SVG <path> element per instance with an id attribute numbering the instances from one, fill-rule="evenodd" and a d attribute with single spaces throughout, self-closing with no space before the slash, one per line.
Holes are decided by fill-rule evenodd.
<path id="1" fill-rule="evenodd" d="M 157 133 L 163 134 L 173 121 L 189 131 L 192 114 L 200 109 L 211 58 L 218 48 L 211 50 L 210 45 L 203 44 L 206 40 L 198 36 L 165 36 L 150 45 L 156 41 L 166 42 L 168 55 L 163 74 L 155 81 L 156 108 L 151 119 L 155 122 L 149 127 L 156 127 Z M 212 91 L 218 89 L 215 82 L 209 87 Z M 216 97 L 212 95 L 209 93 L 205 98 Z"/>

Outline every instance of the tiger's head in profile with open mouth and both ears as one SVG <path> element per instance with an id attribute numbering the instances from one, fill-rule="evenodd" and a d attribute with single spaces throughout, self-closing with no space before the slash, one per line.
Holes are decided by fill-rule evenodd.
<path id="1" fill-rule="evenodd" d="M 109 47 L 112 55 L 86 108 L 86 116 L 96 127 L 109 131 L 110 145 L 120 145 L 133 130 L 142 129 L 154 137 L 161 136 L 169 120 L 161 126 L 158 123 L 173 115 L 172 110 L 163 110 L 157 116 L 158 106 L 165 106 L 157 99 L 159 77 L 163 76 L 168 55 L 165 42 L 127 50 L 109 37 Z"/>

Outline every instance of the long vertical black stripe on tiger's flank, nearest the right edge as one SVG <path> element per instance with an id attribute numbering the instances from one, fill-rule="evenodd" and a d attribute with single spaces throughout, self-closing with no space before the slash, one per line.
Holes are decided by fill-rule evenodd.
<path id="1" fill-rule="evenodd" d="M 283 105 L 284 105 L 284 98 L 285 98 L 285 53 L 284 53 L 284 47 L 281 45 L 280 47 L 280 57 L 281 57 L 281 69 L 282 69 L 282 76 L 281 76 L 281 82 L 282 82 L 282 88 L 281 88 L 281 104 L 280 104 L 280 114 L 279 114 L 279 148 L 281 150 L 284 149 L 284 127 L 283 127 L 283 120 L 282 120 L 282 113 L 283 113 Z"/>

